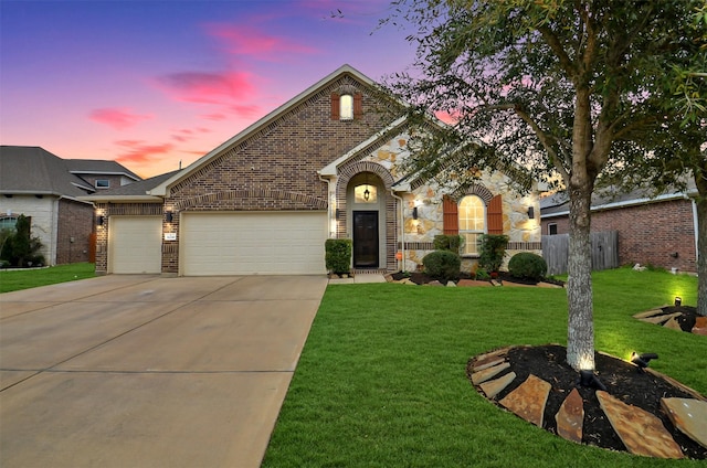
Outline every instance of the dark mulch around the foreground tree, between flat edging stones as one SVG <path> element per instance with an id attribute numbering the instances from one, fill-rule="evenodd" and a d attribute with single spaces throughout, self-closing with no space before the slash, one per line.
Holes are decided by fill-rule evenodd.
<path id="1" fill-rule="evenodd" d="M 564 347 L 557 344 L 510 349 L 507 354 L 510 368 L 505 372 L 515 372 L 517 377 L 514 383 L 494 398 L 494 403 L 498 404 L 498 401 L 525 382 L 529 374 L 535 374 L 552 385 L 545 408 L 544 428 L 557 434 L 555 415 L 572 389 L 578 389 L 584 401 L 582 443 L 611 450 L 625 451 L 623 443 L 599 406 L 599 401 L 594 393 L 595 390 L 579 385 L 579 374 L 567 364 L 566 358 Z M 467 365 L 469 377 L 473 362 L 474 359 L 469 360 Z M 606 386 L 612 396 L 626 404 L 651 412 L 661 418 L 675 442 L 682 447 L 686 457 L 707 459 L 707 449 L 677 430 L 661 408 L 661 397 L 692 398 L 694 395 L 659 375 L 639 372 L 635 365 L 602 353 L 595 354 L 595 368 L 599 380 Z"/>

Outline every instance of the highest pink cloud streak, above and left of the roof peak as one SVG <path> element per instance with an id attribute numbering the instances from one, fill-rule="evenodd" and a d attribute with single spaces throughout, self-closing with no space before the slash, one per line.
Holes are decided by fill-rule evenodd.
<path id="1" fill-rule="evenodd" d="M 292 38 L 266 34 L 252 26 L 211 23 L 207 32 L 223 42 L 228 52 L 238 55 L 254 55 L 260 60 L 274 60 L 285 54 L 310 54 L 315 47 L 297 43 Z"/>

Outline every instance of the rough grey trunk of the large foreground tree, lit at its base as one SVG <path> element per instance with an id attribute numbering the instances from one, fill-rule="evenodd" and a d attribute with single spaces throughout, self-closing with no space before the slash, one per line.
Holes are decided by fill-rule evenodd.
<path id="1" fill-rule="evenodd" d="M 567 362 L 576 370 L 594 370 L 594 321 L 590 237 L 591 183 L 570 189 L 568 257 Z"/>

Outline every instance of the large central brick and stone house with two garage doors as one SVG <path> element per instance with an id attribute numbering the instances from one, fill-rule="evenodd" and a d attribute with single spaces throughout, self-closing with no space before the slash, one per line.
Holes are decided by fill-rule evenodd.
<path id="1" fill-rule="evenodd" d="M 376 108 L 392 102 L 379 93 L 345 65 L 189 167 L 84 196 L 102 222 L 96 270 L 324 274 L 330 237 L 352 238 L 354 268 L 414 270 L 444 232 L 468 240 L 467 269 L 483 233 L 507 234 L 509 254 L 540 253 L 537 192 L 493 172 L 449 196 L 400 173 L 408 125 L 381 124 Z"/>

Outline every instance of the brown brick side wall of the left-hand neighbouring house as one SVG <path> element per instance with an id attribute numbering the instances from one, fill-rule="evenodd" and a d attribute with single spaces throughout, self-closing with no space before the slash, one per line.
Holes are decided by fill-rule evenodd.
<path id="1" fill-rule="evenodd" d="M 62 199 L 59 201 L 59 225 L 56 228 L 56 264 L 88 262 L 91 232 L 93 231 L 93 206 Z"/>

